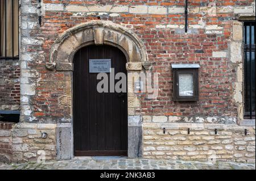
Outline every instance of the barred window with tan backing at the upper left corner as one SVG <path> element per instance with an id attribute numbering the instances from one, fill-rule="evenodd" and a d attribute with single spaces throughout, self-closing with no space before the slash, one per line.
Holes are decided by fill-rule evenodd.
<path id="1" fill-rule="evenodd" d="M 19 60 L 19 0 L 0 0 L 0 60 Z"/>

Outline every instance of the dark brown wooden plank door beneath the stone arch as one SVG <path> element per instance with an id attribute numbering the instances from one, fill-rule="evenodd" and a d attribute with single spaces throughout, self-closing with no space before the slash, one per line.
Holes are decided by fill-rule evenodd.
<path id="1" fill-rule="evenodd" d="M 127 155 L 127 91 L 97 91 L 98 73 L 89 72 L 90 59 L 111 59 L 115 74 L 125 73 L 126 57 L 118 48 L 92 45 L 74 57 L 73 127 L 75 156 Z M 110 77 L 110 73 L 107 73 Z M 118 82 L 118 80 L 115 80 Z M 110 89 L 110 82 L 109 82 Z"/>

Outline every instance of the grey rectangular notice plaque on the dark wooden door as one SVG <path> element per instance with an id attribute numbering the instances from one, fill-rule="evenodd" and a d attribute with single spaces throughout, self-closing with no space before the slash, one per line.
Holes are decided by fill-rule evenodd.
<path id="1" fill-rule="evenodd" d="M 89 73 L 109 73 L 111 68 L 111 59 L 90 59 Z"/>

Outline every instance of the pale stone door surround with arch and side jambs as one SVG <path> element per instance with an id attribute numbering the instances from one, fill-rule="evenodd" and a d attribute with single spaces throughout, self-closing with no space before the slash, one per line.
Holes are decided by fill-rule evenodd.
<path id="1" fill-rule="evenodd" d="M 56 128 L 57 159 L 73 157 L 73 58 L 76 52 L 89 45 L 111 45 L 125 54 L 127 73 L 148 71 L 146 48 L 135 33 L 112 22 L 92 21 L 82 23 L 63 33 L 52 45 L 49 70 L 65 71 L 67 94 L 61 96 L 61 104 L 71 108 L 70 123 L 61 123 Z M 144 69 L 143 69 L 144 68 Z M 133 82 L 127 77 L 127 89 L 133 90 Z M 64 100 L 64 101 L 63 101 Z M 135 110 L 141 109 L 140 99 L 134 93 L 127 98 L 128 110 L 128 157 L 142 157 L 142 116 Z M 136 112 L 136 113 L 135 113 Z"/>

